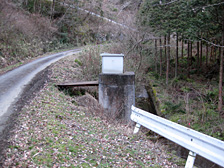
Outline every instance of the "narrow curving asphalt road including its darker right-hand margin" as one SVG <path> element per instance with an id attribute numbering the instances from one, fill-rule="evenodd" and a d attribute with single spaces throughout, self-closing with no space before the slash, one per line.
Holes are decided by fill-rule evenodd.
<path id="1" fill-rule="evenodd" d="M 27 101 L 28 95 L 35 92 L 35 89 L 40 87 L 38 84 L 40 85 L 41 81 L 46 79 L 44 75 L 47 74 L 47 67 L 53 62 L 79 51 L 80 49 L 76 49 L 48 55 L 0 76 L 0 143 L 5 137 L 3 134 L 7 134 L 9 131 L 6 128 L 13 122 L 10 118 L 16 115 L 18 108 L 21 107 L 20 104 L 24 102 L 24 95 Z"/>

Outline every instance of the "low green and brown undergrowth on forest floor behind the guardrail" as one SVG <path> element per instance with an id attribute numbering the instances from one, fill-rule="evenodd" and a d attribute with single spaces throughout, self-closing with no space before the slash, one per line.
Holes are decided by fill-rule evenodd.
<path id="1" fill-rule="evenodd" d="M 174 79 L 167 87 L 164 78 L 156 78 L 152 73 L 148 73 L 147 79 L 155 84 L 164 117 L 224 140 L 224 118 L 217 111 L 217 84 Z"/>

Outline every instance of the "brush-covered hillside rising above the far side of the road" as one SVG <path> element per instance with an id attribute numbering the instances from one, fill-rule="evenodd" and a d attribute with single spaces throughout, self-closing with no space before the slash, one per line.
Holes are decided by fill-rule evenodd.
<path id="1" fill-rule="evenodd" d="M 56 49 L 117 39 L 119 26 L 79 8 L 134 27 L 136 3 L 1 0 L 0 69 Z"/>

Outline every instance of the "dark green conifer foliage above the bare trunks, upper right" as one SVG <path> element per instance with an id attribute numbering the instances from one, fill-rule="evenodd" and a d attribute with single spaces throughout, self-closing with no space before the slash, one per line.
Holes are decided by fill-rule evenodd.
<path id="1" fill-rule="evenodd" d="M 198 40 L 198 32 L 207 33 L 220 41 L 224 19 L 221 0 L 186 1 L 145 0 L 138 14 L 138 22 L 151 27 L 155 34 L 179 32 L 191 40 Z M 162 4 L 161 4 L 162 3 Z"/>

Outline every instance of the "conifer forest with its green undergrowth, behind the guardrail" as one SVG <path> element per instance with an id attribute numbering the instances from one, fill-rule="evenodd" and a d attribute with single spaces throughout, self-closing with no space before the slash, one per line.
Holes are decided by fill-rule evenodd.
<path id="1" fill-rule="evenodd" d="M 170 109 L 171 113 L 184 111 L 188 114 L 182 119 L 178 115 L 168 116 L 172 115 L 176 122 L 185 120 L 186 126 L 191 127 L 193 123 L 194 129 L 200 131 L 203 130 L 200 122 L 214 126 L 216 119 L 223 118 L 224 2 L 145 0 L 138 9 L 137 24 L 142 33 L 142 46 L 138 45 L 141 54 L 147 53 L 146 45 L 151 44 L 154 48 L 148 72 L 155 77 L 154 83 L 158 84 L 155 81 L 160 80 L 159 85 L 165 84 L 167 93 L 173 95 L 173 101 L 164 104 L 165 111 Z M 153 37 L 148 34 L 153 34 Z M 208 90 L 202 91 L 206 86 Z M 181 99 L 185 104 L 184 110 L 179 108 Z M 196 99 L 198 101 L 194 102 Z M 160 109 L 163 111 L 163 108 Z M 189 118 L 190 115 L 192 117 Z M 209 115 L 217 117 L 214 120 Z M 223 136 L 221 125 L 217 133 L 219 137 Z M 217 132 L 217 129 L 211 132 Z"/>

